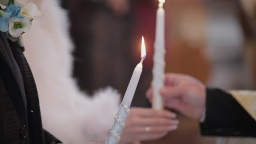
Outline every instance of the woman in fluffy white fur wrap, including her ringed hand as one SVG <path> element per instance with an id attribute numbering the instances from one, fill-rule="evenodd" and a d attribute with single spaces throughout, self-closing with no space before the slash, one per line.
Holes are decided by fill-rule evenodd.
<path id="1" fill-rule="evenodd" d="M 58 0 L 33 2 L 42 16 L 33 21 L 23 39 L 38 87 L 43 127 L 63 143 L 103 142 L 118 111 L 120 95 L 110 87 L 99 89 L 94 98 L 79 91 L 71 77 L 73 44 L 66 11 Z M 174 117 L 165 110 L 133 108 L 121 141 L 159 139 L 177 129 Z"/>

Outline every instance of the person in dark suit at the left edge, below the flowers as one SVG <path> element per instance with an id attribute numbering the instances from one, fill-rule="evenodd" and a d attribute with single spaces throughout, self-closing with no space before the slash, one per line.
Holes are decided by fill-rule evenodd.
<path id="1" fill-rule="evenodd" d="M 61 143 L 45 131 L 37 87 L 17 42 L 0 32 L 0 141 L 8 144 Z"/>

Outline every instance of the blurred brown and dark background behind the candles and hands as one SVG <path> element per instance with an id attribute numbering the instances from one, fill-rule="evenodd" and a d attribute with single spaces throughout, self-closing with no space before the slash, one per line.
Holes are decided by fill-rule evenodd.
<path id="1" fill-rule="evenodd" d="M 149 107 L 157 0 L 62 0 L 69 11 L 75 50 L 73 76 L 92 93 L 112 86 L 124 95 L 140 61 L 141 36 L 147 58 L 133 106 Z M 166 0 L 166 72 L 188 74 L 207 86 L 254 89 L 256 83 L 255 0 Z M 179 115 L 179 129 L 143 143 L 216 143 L 201 137 L 194 119 Z"/>

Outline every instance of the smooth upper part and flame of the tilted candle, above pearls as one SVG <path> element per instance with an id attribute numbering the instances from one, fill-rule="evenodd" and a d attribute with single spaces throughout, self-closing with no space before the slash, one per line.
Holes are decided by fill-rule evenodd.
<path id="1" fill-rule="evenodd" d="M 139 64 L 137 64 L 137 66 L 135 67 L 135 69 L 133 71 L 131 80 L 129 82 L 129 85 L 128 85 L 125 95 L 124 95 L 124 99 L 121 103 L 123 105 L 131 106 L 131 101 L 133 99 L 133 95 L 136 91 L 139 78 L 141 77 L 142 68 L 143 68 L 142 62 L 145 57 L 146 57 L 146 47 L 145 47 L 144 38 L 142 37 L 142 44 L 141 44 L 141 58 L 142 59 L 141 59 L 141 62 L 139 62 Z"/>

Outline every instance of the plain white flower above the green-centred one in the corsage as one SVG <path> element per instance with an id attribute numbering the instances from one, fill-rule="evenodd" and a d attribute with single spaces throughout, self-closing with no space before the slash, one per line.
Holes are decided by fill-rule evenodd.
<path id="1" fill-rule="evenodd" d="M 30 20 L 37 16 L 41 16 L 41 11 L 38 9 L 37 5 L 31 2 L 25 4 L 24 7 L 20 10 L 20 13 Z"/>

